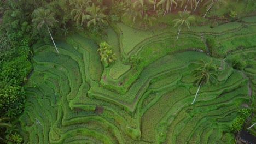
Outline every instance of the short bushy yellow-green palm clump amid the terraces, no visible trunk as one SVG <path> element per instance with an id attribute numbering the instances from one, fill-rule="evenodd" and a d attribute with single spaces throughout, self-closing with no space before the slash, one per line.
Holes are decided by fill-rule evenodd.
<path id="1" fill-rule="evenodd" d="M 112 47 L 106 43 L 106 41 L 101 42 L 100 48 L 98 48 L 97 51 L 101 56 L 101 62 L 103 62 L 104 65 L 106 64 L 106 66 L 117 59 L 115 58 L 115 53 L 113 53 Z"/>

